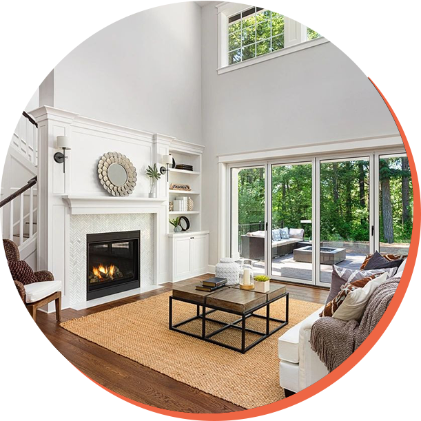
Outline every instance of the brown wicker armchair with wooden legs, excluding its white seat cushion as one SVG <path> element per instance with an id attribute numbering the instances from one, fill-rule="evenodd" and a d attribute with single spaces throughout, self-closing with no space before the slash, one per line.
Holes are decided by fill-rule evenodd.
<path id="1" fill-rule="evenodd" d="M 21 260 L 21 256 L 19 254 L 19 248 L 17 247 L 16 243 L 14 243 L 12 240 L 3 239 L 3 253 L 5 254 L 8 262 L 17 262 L 18 260 Z M 53 274 L 47 270 L 34 272 L 34 276 L 37 278 L 37 283 L 54 280 Z M 28 310 L 30 310 L 30 312 L 33 313 L 34 315 L 36 314 L 37 309 L 55 300 L 56 318 L 58 322 L 60 321 L 61 319 L 61 291 L 54 292 L 53 294 L 50 294 L 39 301 L 27 302 L 26 291 L 25 291 L 24 285 L 21 282 L 19 282 L 19 280 L 17 279 L 14 279 L 13 283 L 15 287 L 17 288 L 17 291 L 19 291 L 19 296 L 23 304 L 26 307 L 28 307 Z"/>

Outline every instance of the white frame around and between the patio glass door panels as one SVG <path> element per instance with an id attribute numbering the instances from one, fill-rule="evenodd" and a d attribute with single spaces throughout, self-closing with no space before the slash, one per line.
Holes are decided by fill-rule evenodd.
<path id="1" fill-rule="evenodd" d="M 233 168 L 264 167 L 265 168 L 265 274 L 275 280 L 282 280 L 287 283 L 301 283 L 303 285 L 314 285 L 317 287 L 328 287 L 325 283 L 320 283 L 320 163 L 323 161 L 347 161 L 361 158 L 369 161 L 369 226 L 370 226 L 370 253 L 373 253 L 380 247 L 380 176 L 379 159 L 380 156 L 399 156 L 407 155 L 403 145 L 387 146 L 384 148 L 364 148 L 360 150 L 348 150 L 345 152 L 302 154 L 301 156 L 274 157 L 272 159 L 256 161 L 238 161 L 225 164 L 226 173 L 226 194 L 225 208 L 226 220 L 225 226 L 228 228 L 225 233 L 226 249 L 231 256 L 232 248 L 232 180 L 231 174 Z M 316 223 L 312 224 L 313 258 L 312 258 L 312 280 L 298 281 L 293 278 L 271 275 L 271 169 L 272 165 L 299 165 L 303 163 L 312 164 L 312 218 Z M 223 164 L 220 162 L 220 164 Z M 221 185 L 220 185 L 221 187 Z M 269 190 L 270 189 L 270 190 Z M 221 209 L 220 209 L 221 210 Z M 269 217 L 270 216 L 270 217 Z M 224 235 L 222 233 L 222 235 Z M 269 243 L 270 242 L 270 243 Z M 222 256 L 220 256 L 222 257 Z"/>

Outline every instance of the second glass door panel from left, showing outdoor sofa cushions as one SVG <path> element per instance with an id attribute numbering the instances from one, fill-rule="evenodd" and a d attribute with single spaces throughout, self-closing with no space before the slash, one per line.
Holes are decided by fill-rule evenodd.
<path id="1" fill-rule="evenodd" d="M 312 171 L 311 163 L 271 165 L 271 276 L 314 283 Z"/>

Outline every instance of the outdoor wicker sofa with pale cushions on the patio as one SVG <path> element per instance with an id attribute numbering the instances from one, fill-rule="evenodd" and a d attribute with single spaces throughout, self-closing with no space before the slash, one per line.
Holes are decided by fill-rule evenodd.
<path id="1" fill-rule="evenodd" d="M 291 254 L 302 242 L 304 229 L 289 229 L 289 238 L 272 240 L 272 258 Z M 241 236 L 241 257 L 265 260 L 265 231 L 249 232 Z"/>

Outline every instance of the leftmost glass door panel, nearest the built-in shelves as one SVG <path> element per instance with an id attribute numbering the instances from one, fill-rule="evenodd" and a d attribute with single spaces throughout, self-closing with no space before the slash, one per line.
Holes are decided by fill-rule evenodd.
<path id="1" fill-rule="evenodd" d="M 231 170 L 231 256 L 265 274 L 265 166 Z"/>

